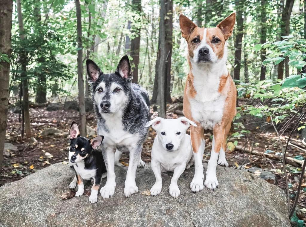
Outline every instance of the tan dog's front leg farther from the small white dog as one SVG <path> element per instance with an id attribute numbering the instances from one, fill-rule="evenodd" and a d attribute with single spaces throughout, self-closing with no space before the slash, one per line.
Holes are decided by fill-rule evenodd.
<path id="1" fill-rule="evenodd" d="M 223 143 L 224 133 L 224 127 L 222 127 L 221 125 L 215 125 L 214 137 L 212 140 L 211 157 L 207 165 L 206 179 L 204 182 L 205 186 L 212 190 L 214 190 L 219 185 L 216 176 L 216 168 L 219 151 Z"/>

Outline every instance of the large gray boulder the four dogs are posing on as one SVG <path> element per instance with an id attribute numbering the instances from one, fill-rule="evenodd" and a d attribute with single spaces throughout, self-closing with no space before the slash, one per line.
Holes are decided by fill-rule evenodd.
<path id="1" fill-rule="evenodd" d="M 74 177 L 74 171 L 62 163 L 5 184 L 0 188 L 0 226 L 291 226 L 285 193 L 251 173 L 218 166 L 219 188 L 194 194 L 189 188 L 191 167 L 178 180 L 181 195 L 174 199 L 168 192 L 172 173 L 165 171 L 161 194 L 142 194 L 155 182 L 147 165 L 137 169 L 139 192 L 125 198 L 126 169 L 115 166 L 114 196 L 103 200 L 99 195 L 94 205 L 88 195 L 60 198 Z M 87 184 L 85 191 L 90 187 Z"/>

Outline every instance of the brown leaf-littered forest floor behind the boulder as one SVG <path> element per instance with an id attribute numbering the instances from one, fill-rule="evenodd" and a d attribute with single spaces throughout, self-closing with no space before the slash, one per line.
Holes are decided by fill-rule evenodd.
<path id="1" fill-rule="evenodd" d="M 181 110 L 175 110 L 167 114 L 167 117 L 177 118 L 177 114 L 181 113 Z M 0 173 L 0 186 L 34 173 L 39 169 L 43 169 L 49 165 L 57 162 L 67 162 L 69 140 L 68 136 L 43 136 L 43 131 L 48 128 L 56 128 L 63 132 L 68 132 L 72 121 L 78 121 L 78 112 L 75 110 L 58 110 L 58 111 L 47 111 L 46 107 L 31 108 L 31 126 L 32 136 L 37 142 L 31 141 L 28 138 L 21 136 L 21 123 L 19 122 L 18 113 L 9 111 L 8 115 L 8 127 L 6 132 L 6 142 L 12 143 L 17 147 L 18 151 L 10 151 L 10 156 L 4 156 L 3 171 Z M 153 113 L 153 115 L 157 113 Z M 92 112 L 86 114 L 87 125 L 91 128 L 96 128 L 96 119 Z M 251 130 L 251 134 L 248 138 L 253 138 L 256 134 L 256 129 Z M 239 146 L 246 144 L 246 139 L 233 139 L 230 138 L 229 142 L 238 141 L 236 148 L 229 144 L 226 152 L 226 159 L 228 160 L 229 166 L 232 168 L 240 168 L 247 171 L 248 169 L 254 169 L 252 167 L 261 168 L 271 172 L 272 176 L 275 176 L 275 180 L 271 180 L 269 177 L 268 181 L 277 185 L 278 187 L 285 189 L 285 178 L 282 165 L 282 149 L 281 146 L 285 147 L 286 140 L 289 132 L 285 133 L 278 143 L 278 136 L 273 130 L 263 130 L 258 132 L 254 143 L 253 150 L 263 153 L 273 154 L 274 158 L 267 158 L 264 155 L 250 154 L 243 149 L 239 149 Z M 142 160 L 146 163 L 151 162 L 151 146 L 155 137 L 155 131 L 150 128 L 147 135 L 147 139 L 143 145 Z M 203 160 L 208 162 L 211 152 L 212 136 L 211 132 L 205 132 L 206 138 L 206 149 L 204 152 Z M 292 144 L 288 147 L 287 156 L 303 159 L 305 156 L 305 150 L 303 151 L 303 145 L 300 143 L 298 134 L 292 136 Z M 281 146 L 280 146 L 281 144 Z M 295 146 L 294 146 L 295 145 Z M 238 147 L 238 148 L 237 148 Z M 248 150 L 252 150 L 252 143 L 248 143 L 245 146 Z M 49 154 L 47 154 L 47 152 Z M 129 155 L 123 153 L 120 159 L 121 163 L 128 165 Z M 301 166 L 298 163 L 291 163 L 286 165 L 288 172 L 289 191 L 290 191 L 290 202 L 294 201 L 297 186 L 300 177 Z M 256 170 L 255 175 L 260 175 L 263 170 Z M 273 178 L 273 177 L 272 177 Z M 306 181 L 305 181 L 306 182 Z M 297 206 L 302 211 L 306 212 L 306 183 L 303 182 L 299 203 Z M 302 212 L 300 219 L 306 221 L 306 216 Z"/>

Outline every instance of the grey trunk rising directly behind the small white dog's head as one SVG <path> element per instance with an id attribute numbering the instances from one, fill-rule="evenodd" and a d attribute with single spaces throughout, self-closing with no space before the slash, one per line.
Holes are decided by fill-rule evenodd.
<path id="1" fill-rule="evenodd" d="M 160 10 L 159 10 L 159 37 L 160 37 L 160 46 L 158 52 L 160 53 L 160 64 L 157 70 L 158 76 L 158 96 L 159 101 L 159 117 L 166 116 L 166 102 L 165 102 L 165 76 L 166 69 L 164 63 L 166 61 L 166 27 L 165 27 L 165 15 L 166 7 L 165 0 L 160 0 Z"/>

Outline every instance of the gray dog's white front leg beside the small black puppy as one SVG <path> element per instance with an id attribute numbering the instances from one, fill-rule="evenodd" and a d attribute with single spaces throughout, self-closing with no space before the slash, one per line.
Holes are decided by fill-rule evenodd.
<path id="1" fill-rule="evenodd" d="M 110 196 L 113 196 L 115 193 L 116 187 L 116 175 L 115 175 L 115 149 L 114 148 L 106 148 L 103 147 L 103 158 L 107 170 L 107 180 L 104 187 L 100 189 L 101 196 L 103 199 L 108 199 Z"/>

